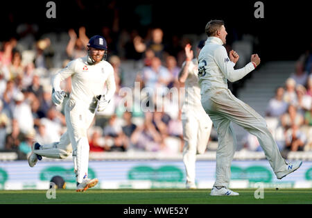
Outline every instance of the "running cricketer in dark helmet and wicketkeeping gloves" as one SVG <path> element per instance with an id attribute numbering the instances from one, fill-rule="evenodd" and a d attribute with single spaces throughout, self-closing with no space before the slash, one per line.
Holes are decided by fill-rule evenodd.
<path id="1" fill-rule="evenodd" d="M 94 120 L 95 110 L 104 110 L 116 90 L 114 69 L 105 60 L 107 44 L 104 37 L 95 35 L 88 44 L 88 56 L 69 62 L 67 67 L 53 76 L 52 101 L 56 105 L 62 103 L 64 91 L 60 83 L 71 76 L 71 94 L 64 113 L 67 131 L 60 137 L 60 142 L 40 145 L 33 144 L 33 153 L 28 158 L 31 167 L 38 158 L 66 158 L 73 155 L 74 171 L 77 177 L 77 191 L 85 191 L 94 187 L 98 180 L 87 178 L 89 162 L 89 142 L 87 129 Z M 106 84 L 107 92 L 104 92 Z"/>

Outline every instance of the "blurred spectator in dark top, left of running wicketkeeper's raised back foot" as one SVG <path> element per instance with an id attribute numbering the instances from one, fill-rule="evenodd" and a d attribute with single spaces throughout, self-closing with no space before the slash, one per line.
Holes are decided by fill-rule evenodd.
<path id="1" fill-rule="evenodd" d="M 19 130 L 19 124 L 16 119 L 12 119 L 12 130 L 6 135 L 6 150 L 18 151 L 19 144 L 24 140 L 24 134 Z"/>

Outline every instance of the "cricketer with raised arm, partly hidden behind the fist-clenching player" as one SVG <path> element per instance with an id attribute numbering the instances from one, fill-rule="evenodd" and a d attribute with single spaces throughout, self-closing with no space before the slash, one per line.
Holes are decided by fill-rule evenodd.
<path id="1" fill-rule="evenodd" d="M 197 53 L 204 47 L 205 40 L 200 41 Z M 185 47 L 187 60 L 183 62 L 178 76 L 184 83 L 185 98 L 182 106 L 183 125 L 183 162 L 187 176 L 187 188 L 196 188 L 196 155 L 206 151 L 212 121 L 202 108 L 200 102 L 200 87 L 198 85 L 198 59 L 193 58 L 191 45 Z"/>

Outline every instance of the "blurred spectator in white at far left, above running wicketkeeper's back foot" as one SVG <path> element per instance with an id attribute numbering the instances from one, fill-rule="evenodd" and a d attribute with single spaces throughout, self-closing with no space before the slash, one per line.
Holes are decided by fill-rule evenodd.
<path id="1" fill-rule="evenodd" d="M 13 98 L 15 106 L 12 109 L 12 117 L 17 120 L 21 132 L 26 134 L 34 127 L 31 106 L 22 92 L 18 92 Z"/>

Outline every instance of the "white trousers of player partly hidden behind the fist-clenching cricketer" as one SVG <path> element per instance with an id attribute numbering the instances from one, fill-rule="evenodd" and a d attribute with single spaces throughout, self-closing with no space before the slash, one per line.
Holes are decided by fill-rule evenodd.
<path id="1" fill-rule="evenodd" d="M 187 183 L 195 184 L 196 154 L 205 152 L 212 128 L 212 121 L 203 110 L 188 107 L 182 112 L 183 125 L 183 163 L 187 176 Z"/>

